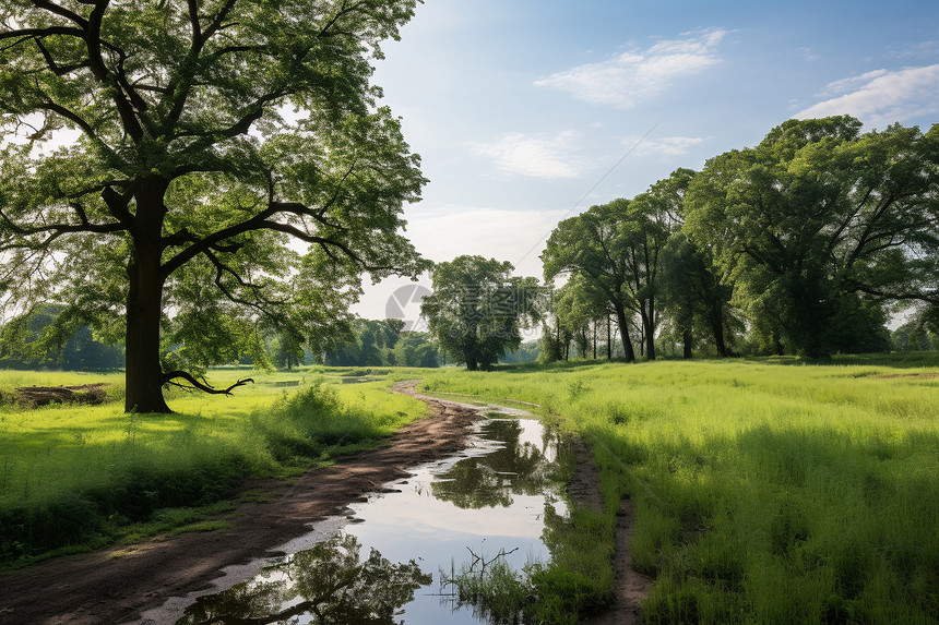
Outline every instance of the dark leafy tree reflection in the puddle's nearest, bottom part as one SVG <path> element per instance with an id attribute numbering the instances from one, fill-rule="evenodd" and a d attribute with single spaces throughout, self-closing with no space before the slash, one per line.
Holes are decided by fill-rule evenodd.
<path id="1" fill-rule="evenodd" d="M 249 582 L 199 599 L 177 625 L 391 625 L 431 577 L 413 560 L 392 564 L 375 549 L 359 561 L 360 548 L 354 536 L 336 534 Z"/>

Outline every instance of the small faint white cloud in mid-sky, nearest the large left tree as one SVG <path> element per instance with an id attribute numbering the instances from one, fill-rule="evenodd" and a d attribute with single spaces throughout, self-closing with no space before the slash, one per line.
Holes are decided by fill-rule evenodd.
<path id="1" fill-rule="evenodd" d="M 555 137 L 503 135 L 496 143 L 471 143 L 473 152 L 496 160 L 503 173 L 535 178 L 577 178 L 583 165 L 573 156 L 578 133 L 566 131 Z"/>

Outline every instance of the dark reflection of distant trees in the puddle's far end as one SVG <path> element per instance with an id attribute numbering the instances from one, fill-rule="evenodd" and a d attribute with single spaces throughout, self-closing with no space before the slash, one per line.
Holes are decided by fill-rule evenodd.
<path id="1" fill-rule="evenodd" d="M 485 456 L 464 458 L 431 484 L 433 496 L 460 508 L 509 507 L 512 495 L 543 494 L 554 485 L 557 441 L 545 430 L 543 440 L 525 440 L 518 419 L 494 419 L 484 429 L 499 446 Z"/>

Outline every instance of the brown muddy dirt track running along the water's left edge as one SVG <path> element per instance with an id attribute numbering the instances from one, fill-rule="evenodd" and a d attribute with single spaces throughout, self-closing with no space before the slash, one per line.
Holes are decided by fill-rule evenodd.
<path id="1" fill-rule="evenodd" d="M 415 395 L 416 382 L 394 390 Z M 380 449 L 285 483 L 254 481 L 262 502 L 239 503 L 231 527 L 155 539 L 128 549 L 57 557 L 0 577 L 0 624 L 92 625 L 134 621 L 168 597 L 210 586 L 219 570 L 245 564 L 309 531 L 308 524 L 342 510 L 406 468 L 463 448 L 479 419 L 472 408 L 420 397 L 432 416 L 416 421 Z"/>

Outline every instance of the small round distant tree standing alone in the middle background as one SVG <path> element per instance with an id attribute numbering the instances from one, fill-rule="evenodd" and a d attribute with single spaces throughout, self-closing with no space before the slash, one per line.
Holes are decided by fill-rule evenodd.
<path id="1" fill-rule="evenodd" d="M 457 256 L 431 271 L 433 293 L 420 312 L 440 347 L 470 371 L 489 369 L 522 344 L 521 328 L 539 318 L 542 289 L 512 276 L 511 263 Z"/>

